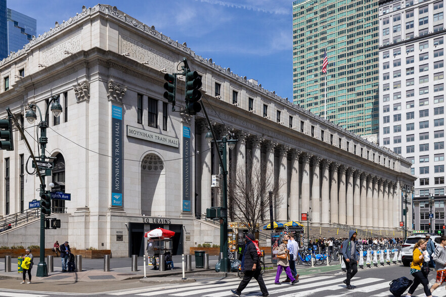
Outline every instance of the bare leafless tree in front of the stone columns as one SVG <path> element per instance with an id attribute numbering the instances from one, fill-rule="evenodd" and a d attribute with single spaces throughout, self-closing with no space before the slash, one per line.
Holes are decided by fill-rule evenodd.
<path id="1" fill-rule="evenodd" d="M 270 218 L 270 191 L 273 192 L 274 209 L 281 203 L 287 203 L 278 194 L 282 186 L 274 179 L 274 172 L 266 170 L 264 163 L 246 170 L 245 167 L 238 167 L 230 181 L 231 190 L 228 191 L 232 217 L 246 225 L 249 232 L 254 232 L 258 229 L 257 224 Z"/>

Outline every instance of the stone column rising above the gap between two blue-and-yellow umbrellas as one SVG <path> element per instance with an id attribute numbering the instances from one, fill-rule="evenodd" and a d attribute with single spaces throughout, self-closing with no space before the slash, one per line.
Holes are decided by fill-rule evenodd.
<path id="1" fill-rule="evenodd" d="M 282 145 L 279 156 L 279 196 L 277 201 L 277 221 L 286 223 L 288 221 L 288 151 L 290 147 Z"/>

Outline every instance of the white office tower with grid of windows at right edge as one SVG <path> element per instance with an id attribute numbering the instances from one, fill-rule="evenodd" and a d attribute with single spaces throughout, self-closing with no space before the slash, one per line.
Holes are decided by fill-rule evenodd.
<path id="1" fill-rule="evenodd" d="M 380 1 L 380 144 L 412 161 L 415 228 L 444 225 L 443 1 Z M 410 197 L 409 197 L 410 198 Z M 417 202 L 418 201 L 418 202 Z"/>

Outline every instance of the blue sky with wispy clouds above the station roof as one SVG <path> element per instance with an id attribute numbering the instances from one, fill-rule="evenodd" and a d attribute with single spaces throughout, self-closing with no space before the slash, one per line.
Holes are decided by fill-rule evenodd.
<path id="1" fill-rule="evenodd" d="M 292 0 L 104 0 L 195 54 L 292 101 Z M 8 0 L 37 20 L 37 34 L 93 7 L 98 0 Z"/>

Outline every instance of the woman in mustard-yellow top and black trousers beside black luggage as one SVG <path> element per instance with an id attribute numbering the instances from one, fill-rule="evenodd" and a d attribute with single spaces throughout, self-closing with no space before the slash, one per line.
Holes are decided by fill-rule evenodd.
<path id="1" fill-rule="evenodd" d="M 425 275 L 425 273 L 421 271 L 424 257 L 427 256 L 427 251 L 425 251 L 426 245 L 427 241 L 424 239 L 420 239 L 417 243 L 415 243 L 413 254 L 414 260 L 411 263 L 411 274 L 414 276 L 414 282 L 409 288 L 406 297 L 412 296 L 420 283 L 423 284 L 423 289 L 426 297 L 432 296 L 432 293 L 429 290 L 429 280 L 427 279 L 427 275 Z"/>

